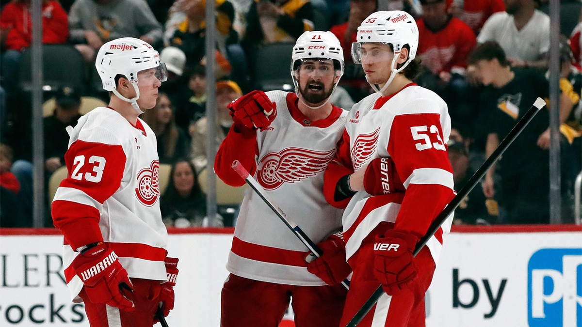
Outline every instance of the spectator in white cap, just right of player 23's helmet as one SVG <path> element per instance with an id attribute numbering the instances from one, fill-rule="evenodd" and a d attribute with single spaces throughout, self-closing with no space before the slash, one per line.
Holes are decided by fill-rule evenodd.
<path id="1" fill-rule="evenodd" d="M 168 68 L 168 80 L 162 83 L 158 90 L 168 94 L 172 103 L 176 104 L 180 95 L 187 92 L 187 83 L 184 79 L 186 54 L 180 48 L 165 47 L 159 53 L 159 59 Z"/>

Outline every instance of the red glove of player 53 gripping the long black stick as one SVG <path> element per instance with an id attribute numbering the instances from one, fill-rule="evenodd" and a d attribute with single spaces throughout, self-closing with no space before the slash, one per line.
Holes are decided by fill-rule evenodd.
<path id="1" fill-rule="evenodd" d="M 412 255 L 417 241 L 418 237 L 393 229 L 376 236 L 374 276 L 387 294 L 398 294 L 418 278 Z"/>

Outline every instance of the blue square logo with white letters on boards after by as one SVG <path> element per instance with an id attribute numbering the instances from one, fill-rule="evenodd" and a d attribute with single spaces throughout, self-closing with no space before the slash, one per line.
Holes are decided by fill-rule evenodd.
<path id="1" fill-rule="evenodd" d="M 582 327 L 582 248 L 545 248 L 527 265 L 530 327 Z"/>

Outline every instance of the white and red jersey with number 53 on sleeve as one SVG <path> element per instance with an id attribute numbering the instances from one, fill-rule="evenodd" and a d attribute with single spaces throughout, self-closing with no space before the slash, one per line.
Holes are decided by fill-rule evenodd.
<path id="1" fill-rule="evenodd" d="M 359 191 L 349 200 L 343 214 L 347 258 L 356 253 L 380 222 L 393 223 L 394 229 L 410 232 L 419 239 L 424 236 L 432 219 L 454 194 L 446 152 L 449 134 L 445 102 L 414 83 L 388 97 L 369 95 L 353 106 L 338 156 L 326 172 L 326 178 L 335 174 L 326 180 L 329 202 L 341 207 L 332 199 L 337 181 L 346 175 L 345 167 L 351 171 L 365 169 L 378 157 L 392 158 L 406 192 L 371 196 Z M 449 232 L 451 222 L 452 216 L 427 243 L 435 262 L 442 235 Z"/>

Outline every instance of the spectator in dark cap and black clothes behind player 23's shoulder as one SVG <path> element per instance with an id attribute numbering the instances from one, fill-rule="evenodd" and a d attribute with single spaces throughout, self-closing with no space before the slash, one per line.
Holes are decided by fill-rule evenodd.
<path id="1" fill-rule="evenodd" d="M 77 120 L 81 118 L 80 107 L 81 97 L 74 88 L 66 86 L 56 91 L 54 112 L 43 121 L 44 168 L 47 178 L 65 164 L 65 152 L 69 147 L 66 127 L 77 125 Z"/>

